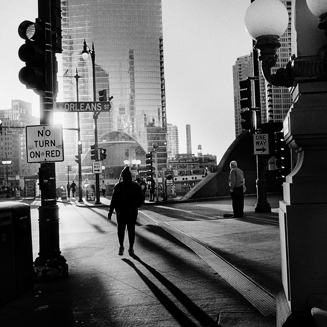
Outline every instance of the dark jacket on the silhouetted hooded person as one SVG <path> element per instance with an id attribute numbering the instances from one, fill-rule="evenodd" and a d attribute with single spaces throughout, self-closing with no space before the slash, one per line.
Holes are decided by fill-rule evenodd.
<path id="1" fill-rule="evenodd" d="M 137 210 L 144 203 L 144 193 L 136 182 L 119 182 L 114 187 L 109 213 Z"/>

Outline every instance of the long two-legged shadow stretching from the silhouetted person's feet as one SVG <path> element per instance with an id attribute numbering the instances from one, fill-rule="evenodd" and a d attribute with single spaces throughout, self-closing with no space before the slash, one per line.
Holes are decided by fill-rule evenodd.
<path id="1" fill-rule="evenodd" d="M 158 281 L 160 281 L 160 283 L 164 285 L 180 301 L 180 303 L 192 314 L 192 316 L 201 324 L 201 326 L 217 326 L 216 322 L 209 315 L 207 315 L 201 308 L 199 308 L 186 294 L 184 294 L 166 277 L 142 261 L 137 255 L 133 255 L 132 257 L 140 262 L 146 269 L 148 269 L 153 274 L 153 276 L 156 277 Z M 173 303 L 172 300 L 167 297 L 167 295 L 165 295 L 153 282 L 151 282 L 131 260 L 122 260 L 129 264 L 133 269 L 135 269 L 137 274 L 149 286 L 153 294 L 160 300 L 160 302 L 182 326 L 197 326 Z"/>

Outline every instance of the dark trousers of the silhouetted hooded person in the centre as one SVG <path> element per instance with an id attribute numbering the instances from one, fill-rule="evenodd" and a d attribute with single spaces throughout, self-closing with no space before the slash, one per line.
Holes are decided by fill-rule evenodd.
<path id="1" fill-rule="evenodd" d="M 129 247 L 133 247 L 135 241 L 136 219 L 137 210 L 117 212 L 117 234 L 120 246 L 124 246 L 125 230 L 127 227 Z"/>

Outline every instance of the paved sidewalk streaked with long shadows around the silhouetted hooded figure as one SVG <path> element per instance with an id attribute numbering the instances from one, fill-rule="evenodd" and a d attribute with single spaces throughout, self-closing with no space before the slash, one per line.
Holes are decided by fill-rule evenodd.
<path id="1" fill-rule="evenodd" d="M 117 255 L 115 219 L 106 219 L 110 200 L 101 197 L 100 201 L 98 205 L 94 202 L 75 204 L 99 207 L 101 216 L 91 210 L 85 210 L 84 215 L 81 210 L 81 217 L 74 213 L 74 205 L 65 207 L 69 217 L 61 218 L 60 237 L 69 278 L 37 283 L 33 290 L 1 307 L 1 327 L 192 327 L 217 326 L 218 321 L 223 327 L 275 326 L 274 316 L 263 316 L 235 291 L 216 272 L 219 267 L 213 262 L 215 259 L 198 246 L 208 246 L 221 255 L 229 253 L 229 259 L 244 268 L 261 262 L 259 269 L 276 273 L 278 267 L 275 266 L 279 265 L 277 228 L 250 225 L 244 233 L 246 223 L 235 223 L 233 229 L 228 230 L 224 220 L 218 223 L 216 220 L 176 221 L 165 229 L 140 224 L 136 256 L 125 253 L 121 257 Z M 226 199 L 227 202 L 230 199 Z M 269 215 L 276 216 L 276 213 Z M 201 244 L 181 237 L 183 233 Z M 232 249 L 235 237 L 245 234 L 251 242 L 246 247 L 240 243 L 238 251 Z M 176 246 L 176 242 L 186 247 Z M 189 250 L 190 242 L 193 251 Z M 241 257 L 247 259 L 241 260 Z M 224 270 L 229 273 L 228 268 Z M 248 272 L 251 273 L 251 269 Z M 275 288 L 272 284 L 271 289 Z"/>

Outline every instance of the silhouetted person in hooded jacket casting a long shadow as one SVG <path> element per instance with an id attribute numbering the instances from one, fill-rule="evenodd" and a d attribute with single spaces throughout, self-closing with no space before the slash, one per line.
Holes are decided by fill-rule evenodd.
<path id="1" fill-rule="evenodd" d="M 117 234 L 120 245 L 118 254 L 124 254 L 124 238 L 127 227 L 129 239 L 128 252 L 130 255 L 133 255 L 136 219 L 138 208 L 144 203 L 144 194 L 140 186 L 132 181 L 132 174 L 128 166 L 122 170 L 121 178 L 122 181 L 114 186 L 108 219 L 111 220 L 112 213 L 115 210 L 117 216 Z"/>

